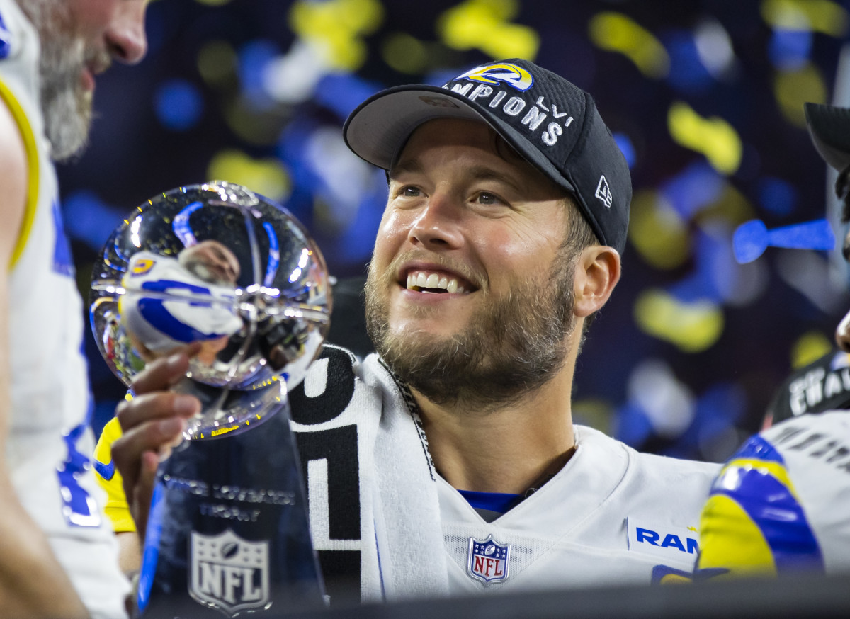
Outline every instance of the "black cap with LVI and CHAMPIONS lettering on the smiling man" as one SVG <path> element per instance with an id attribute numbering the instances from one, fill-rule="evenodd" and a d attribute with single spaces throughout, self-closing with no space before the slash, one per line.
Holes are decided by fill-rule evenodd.
<path id="1" fill-rule="evenodd" d="M 548 179 L 575 196 L 599 240 L 626 247 L 632 179 L 590 94 L 528 60 L 479 65 L 442 87 L 388 88 L 343 127 L 348 148 L 388 170 L 411 133 L 434 118 L 484 121 Z"/>

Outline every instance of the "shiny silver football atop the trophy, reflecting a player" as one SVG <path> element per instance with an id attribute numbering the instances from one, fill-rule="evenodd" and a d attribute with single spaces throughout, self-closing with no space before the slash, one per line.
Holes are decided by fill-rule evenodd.
<path id="1" fill-rule="evenodd" d="M 262 422 L 319 354 L 331 316 L 324 258 L 302 225 L 241 185 L 213 181 L 144 202 L 94 265 L 91 325 L 129 385 L 147 363 L 193 342 L 174 390 L 202 410 L 187 439 Z"/>

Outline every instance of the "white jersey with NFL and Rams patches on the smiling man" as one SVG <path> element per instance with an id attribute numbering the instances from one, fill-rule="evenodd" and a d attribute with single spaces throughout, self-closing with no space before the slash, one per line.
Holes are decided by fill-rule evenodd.
<path id="1" fill-rule="evenodd" d="M 584 426 L 539 490 L 485 522 L 439 479 L 451 593 L 648 584 L 689 572 L 719 465 L 638 453 Z"/>

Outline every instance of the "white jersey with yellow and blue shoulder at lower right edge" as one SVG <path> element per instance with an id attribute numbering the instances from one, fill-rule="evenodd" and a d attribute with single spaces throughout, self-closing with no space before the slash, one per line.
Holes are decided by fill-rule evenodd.
<path id="1" fill-rule="evenodd" d="M 729 459 L 702 514 L 698 576 L 850 570 L 850 412 L 793 417 Z"/>

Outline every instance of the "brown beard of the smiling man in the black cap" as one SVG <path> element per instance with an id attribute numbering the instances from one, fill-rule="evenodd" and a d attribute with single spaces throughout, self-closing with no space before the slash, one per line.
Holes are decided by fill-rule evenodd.
<path id="1" fill-rule="evenodd" d="M 515 283 L 507 296 L 493 298 L 467 327 L 444 339 L 392 331 L 388 292 L 405 257 L 383 275 L 373 258 L 365 287 L 369 337 L 396 376 L 434 403 L 482 411 L 509 406 L 564 366 L 566 336 L 575 328 L 574 260 L 565 253 L 555 258 L 547 280 Z"/>

